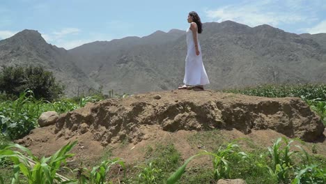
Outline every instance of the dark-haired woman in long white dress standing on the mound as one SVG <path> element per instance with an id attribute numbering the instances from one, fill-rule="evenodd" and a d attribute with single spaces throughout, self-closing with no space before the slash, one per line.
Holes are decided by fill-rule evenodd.
<path id="1" fill-rule="evenodd" d="M 187 29 L 187 57 L 185 59 L 185 78 L 183 86 L 178 89 L 203 90 L 203 85 L 210 84 L 201 55 L 198 33 L 201 33 L 202 24 L 199 15 L 192 11 L 188 15 L 190 27 Z"/>

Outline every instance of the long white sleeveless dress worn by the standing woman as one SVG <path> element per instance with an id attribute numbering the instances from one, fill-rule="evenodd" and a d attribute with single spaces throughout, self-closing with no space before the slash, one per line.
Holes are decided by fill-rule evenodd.
<path id="1" fill-rule="evenodd" d="M 199 41 L 198 49 L 201 52 Z M 196 55 L 192 30 L 189 28 L 187 29 L 187 57 L 185 59 L 185 79 L 183 79 L 183 83 L 190 86 L 210 84 L 205 67 L 203 66 L 203 57 L 201 53 L 199 56 Z"/>

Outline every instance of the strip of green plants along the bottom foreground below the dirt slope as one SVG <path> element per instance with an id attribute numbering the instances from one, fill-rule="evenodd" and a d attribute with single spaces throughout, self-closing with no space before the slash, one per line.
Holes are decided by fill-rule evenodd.
<path id="1" fill-rule="evenodd" d="M 2 144 L 0 158 L 11 160 L 13 173 L 0 169 L 0 183 L 11 180 L 13 183 L 97 184 L 113 183 L 120 179 L 121 183 L 210 183 L 219 178 L 243 178 L 247 183 L 326 182 L 325 157 L 309 155 L 297 145 L 295 147 L 298 149 L 293 149 L 293 140 L 285 138 L 277 139 L 272 146 L 261 150 L 261 153 L 241 151 L 235 142 L 223 144 L 215 151 L 203 150 L 188 158 L 179 168 L 181 158 L 176 148 L 171 144 L 158 144 L 155 149 L 147 152 L 150 153 L 149 158 L 134 167 L 129 176 L 117 174 L 116 169 L 123 173 L 127 170 L 125 162 L 120 158 L 105 159 L 93 169 L 65 167 L 63 164 L 73 156 L 69 151 L 75 144 L 73 142 L 63 146 L 48 158 L 36 158 L 29 149 L 17 144 Z M 212 167 L 186 168 L 189 162 L 200 156 L 208 156 L 212 160 Z M 61 176 L 59 171 L 65 175 L 70 171 L 73 176 Z M 117 178 L 119 176 L 123 178 Z"/>

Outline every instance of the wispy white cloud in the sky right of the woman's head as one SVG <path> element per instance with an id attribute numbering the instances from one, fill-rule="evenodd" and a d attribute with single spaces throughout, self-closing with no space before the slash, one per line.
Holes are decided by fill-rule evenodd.
<path id="1" fill-rule="evenodd" d="M 206 16 L 212 21 L 232 20 L 249 26 L 270 24 L 295 24 L 316 20 L 311 7 L 306 7 L 302 0 L 286 1 L 242 1 L 231 6 L 223 6 L 215 10 L 206 10 Z"/>

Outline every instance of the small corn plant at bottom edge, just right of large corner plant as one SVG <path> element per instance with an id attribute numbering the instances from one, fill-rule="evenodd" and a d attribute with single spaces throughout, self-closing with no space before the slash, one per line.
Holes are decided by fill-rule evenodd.
<path id="1" fill-rule="evenodd" d="M 107 174 L 114 165 L 120 165 L 125 171 L 125 163 L 120 158 L 114 158 L 113 160 L 105 160 L 99 166 L 93 167 L 92 170 L 88 170 L 86 167 L 80 167 L 72 170 L 77 174 L 77 180 L 79 184 L 106 184 Z"/>

